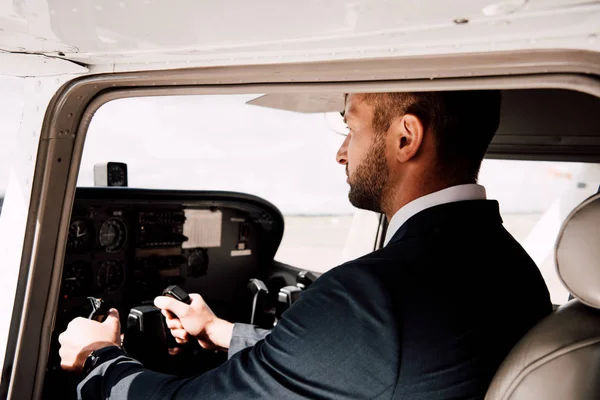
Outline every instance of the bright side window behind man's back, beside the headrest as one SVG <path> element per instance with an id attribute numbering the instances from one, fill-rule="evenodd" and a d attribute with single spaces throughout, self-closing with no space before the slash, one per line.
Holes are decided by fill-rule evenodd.
<path id="1" fill-rule="evenodd" d="M 488 198 L 499 201 L 505 228 L 540 268 L 553 303 L 567 302 L 569 293 L 556 273 L 554 243 L 573 208 L 598 192 L 600 165 L 486 159 L 479 183 Z"/>

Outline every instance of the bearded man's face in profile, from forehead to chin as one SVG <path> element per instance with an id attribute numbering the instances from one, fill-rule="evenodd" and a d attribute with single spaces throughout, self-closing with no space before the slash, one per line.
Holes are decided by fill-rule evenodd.
<path id="1" fill-rule="evenodd" d="M 381 213 L 389 178 L 386 137 L 373 131 L 373 108 L 359 94 L 348 96 L 344 118 L 349 133 L 336 159 L 346 166 L 348 198 L 354 207 Z"/>

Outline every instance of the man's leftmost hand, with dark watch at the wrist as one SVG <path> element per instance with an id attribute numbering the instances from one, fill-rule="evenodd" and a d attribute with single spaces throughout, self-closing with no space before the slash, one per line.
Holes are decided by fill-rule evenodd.
<path id="1" fill-rule="evenodd" d="M 104 322 L 75 318 L 59 337 L 60 366 L 67 371 L 80 372 L 86 358 L 94 350 L 121 346 L 119 312 L 111 309 Z"/>

